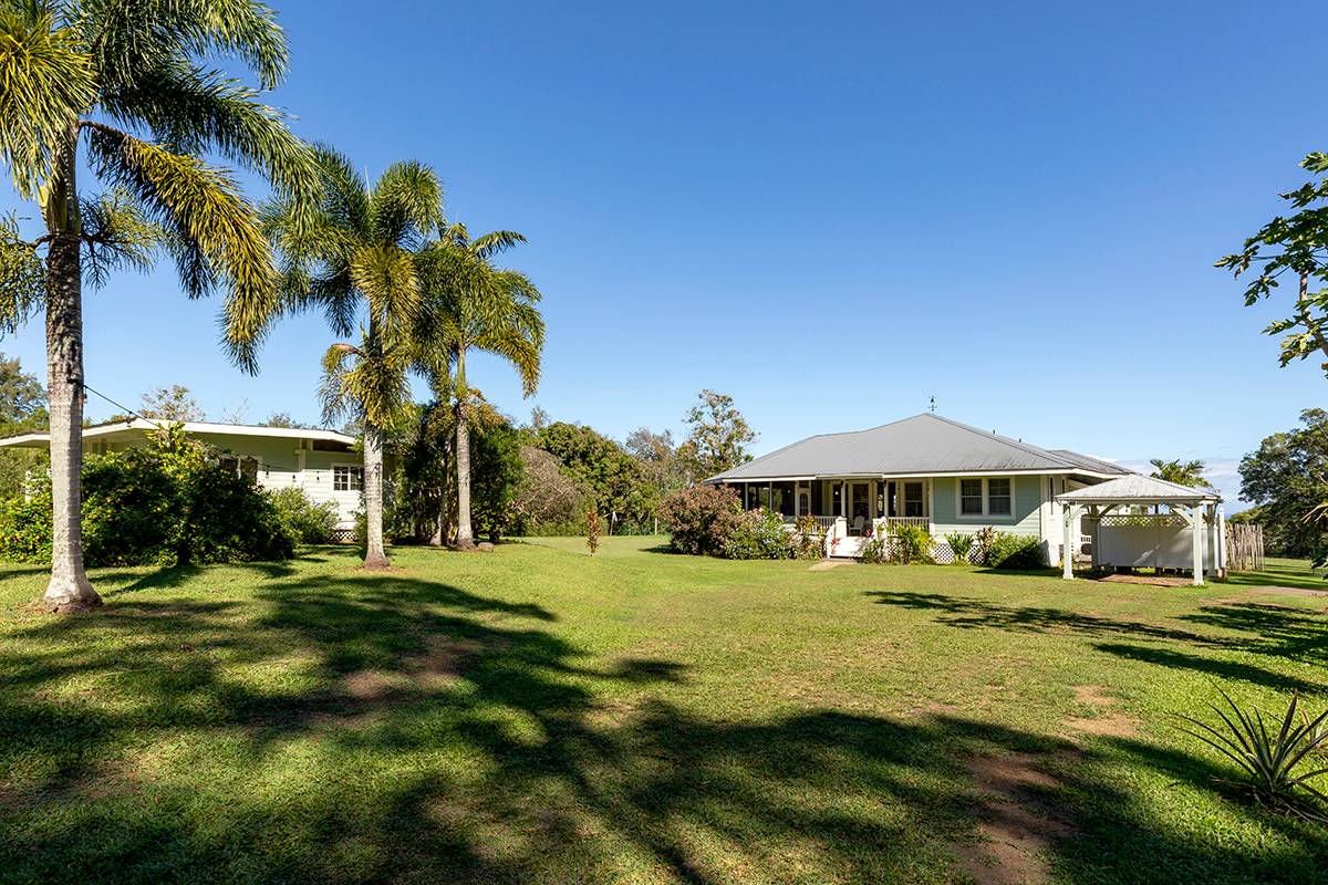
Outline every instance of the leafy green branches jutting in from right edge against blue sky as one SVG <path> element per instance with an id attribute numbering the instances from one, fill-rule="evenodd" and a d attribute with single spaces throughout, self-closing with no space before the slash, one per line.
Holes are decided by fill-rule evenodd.
<path id="1" fill-rule="evenodd" d="M 1239 252 L 1216 263 L 1236 277 L 1258 265 L 1258 273 L 1246 285 L 1246 305 L 1272 296 L 1287 273 L 1297 281 L 1291 316 L 1264 329 L 1267 334 L 1283 336 L 1284 366 L 1315 353 L 1328 357 L 1328 288 L 1311 292 L 1313 285 L 1328 284 L 1328 154 L 1309 154 L 1300 166 L 1319 179 L 1282 194 L 1295 214 L 1274 218 L 1247 239 Z M 1328 373 L 1328 361 L 1321 365 Z"/>

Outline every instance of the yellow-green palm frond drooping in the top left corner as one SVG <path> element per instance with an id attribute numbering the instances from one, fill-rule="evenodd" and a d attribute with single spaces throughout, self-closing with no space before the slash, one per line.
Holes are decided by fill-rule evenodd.
<path id="1" fill-rule="evenodd" d="M 0 7 L 0 161 L 23 199 L 35 199 L 54 155 L 96 96 L 77 32 L 39 3 Z"/>

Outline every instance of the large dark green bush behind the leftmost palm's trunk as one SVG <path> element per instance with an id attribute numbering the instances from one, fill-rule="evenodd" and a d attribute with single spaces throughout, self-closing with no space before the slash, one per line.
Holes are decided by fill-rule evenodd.
<path id="1" fill-rule="evenodd" d="M 0 504 L 0 557 L 50 561 L 50 480 Z M 88 458 L 84 467 L 84 561 L 166 565 L 290 559 L 295 537 L 251 482 L 211 463 L 182 435 L 153 447 Z"/>

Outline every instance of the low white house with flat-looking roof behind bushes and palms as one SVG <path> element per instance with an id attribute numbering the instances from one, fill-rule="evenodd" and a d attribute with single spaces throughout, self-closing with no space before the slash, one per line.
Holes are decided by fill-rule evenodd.
<path id="1" fill-rule="evenodd" d="M 134 418 L 84 430 L 84 451 L 104 454 L 147 444 L 158 422 Z M 190 421 L 185 433 L 211 446 L 223 466 L 263 488 L 303 488 L 313 502 L 335 502 L 340 528 L 352 528 L 361 510 L 364 459 L 356 438 L 336 430 L 255 427 Z M 0 439 L 4 447 L 46 448 L 50 434 Z"/>

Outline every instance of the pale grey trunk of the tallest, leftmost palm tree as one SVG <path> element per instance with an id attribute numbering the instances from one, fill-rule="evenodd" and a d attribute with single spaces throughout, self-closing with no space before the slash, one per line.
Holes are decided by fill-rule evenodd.
<path id="1" fill-rule="evenodd" d="M 46 247 L 46 398 L 50 410 L 50 582 L 54 609 L 101 605 L 82 563 L 82 241 L 74 184 L 78 129 L 72 126 L 61 174 L 42 207 Z"/>

